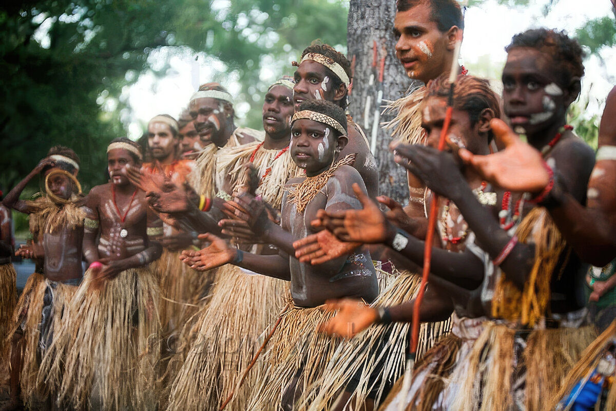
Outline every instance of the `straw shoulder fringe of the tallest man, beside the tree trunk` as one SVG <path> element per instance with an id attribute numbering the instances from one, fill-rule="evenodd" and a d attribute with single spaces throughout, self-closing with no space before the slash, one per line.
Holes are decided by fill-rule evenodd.
<path id="1" fill-rule="evenodd" d="M 424 144 L 426 133 L 421 128 L 419 105 L 425 95 L 426 87 L 420 86 L 385 107 L 381 116 L 395 116 L 393 120 L 381 123 L 384 129 L 391 131 L 392 139 L 405 144 Z"/>

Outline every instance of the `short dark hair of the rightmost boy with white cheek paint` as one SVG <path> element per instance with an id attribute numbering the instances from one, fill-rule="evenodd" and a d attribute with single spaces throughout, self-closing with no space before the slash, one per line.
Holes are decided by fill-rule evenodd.
<path id="1" fill-rule="evenodd" d="M 582 78 L 584 75 L 585 53 L 577 40 L 569 38 L 563 31 L 548 28 L 533 28 L 523 31 L 511 38 L 505 51 L 509 52 L 515 47 L 530 47 L 552 57 L 552 70 L 556 73 L 559 85 L 569 87 L 573 77 Z"/>

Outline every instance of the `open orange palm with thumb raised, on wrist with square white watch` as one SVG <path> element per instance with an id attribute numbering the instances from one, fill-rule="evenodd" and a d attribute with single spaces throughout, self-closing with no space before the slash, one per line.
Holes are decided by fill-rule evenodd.
<path id="1" fill-rule="evenodd" d="M 339 240 L 345 242 L 383 243 L 391 231 L 395 230 L 394 227 L 358 184 L 353 184 L 353 191 L 362 203 L 362 210 L 319 210 L 317 219 L 312 221 L 312 225 L 325 227 Z"/>

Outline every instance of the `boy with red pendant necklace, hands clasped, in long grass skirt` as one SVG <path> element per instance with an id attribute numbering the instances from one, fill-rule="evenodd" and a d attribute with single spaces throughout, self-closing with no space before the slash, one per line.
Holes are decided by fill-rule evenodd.
<path id="1" fill-rule="evenodd" d="M 160 257 L 161 246 L 150 237 L 160 237 L 162 227 L 145 192 L 126 175 L 141 161 L 139 145 L 129 139 L 107 147 L 111 181 L 86 198 L 83 245 L 90 267 L 71 301 L 74 314 L 41 366 L 59 399 L 76 408 L 155 408 L 160 296 L 148 265 Z"/>

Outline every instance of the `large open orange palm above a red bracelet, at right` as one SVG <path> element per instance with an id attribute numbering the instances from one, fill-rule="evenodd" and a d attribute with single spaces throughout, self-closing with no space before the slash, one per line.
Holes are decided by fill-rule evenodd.
<path id="1" fill-rule="evenodd" d="M 522 142 L 504 121 L 493 119 L 490 123 L 496 140 L 505 149 L 490 155 L 474 155 L 460 149 L 458 155 L 488 182 L 503 189 L 536 193 L 548 185 L 549 174 L 541 163 L 541 153 Z"/>

